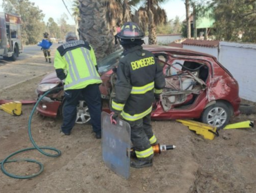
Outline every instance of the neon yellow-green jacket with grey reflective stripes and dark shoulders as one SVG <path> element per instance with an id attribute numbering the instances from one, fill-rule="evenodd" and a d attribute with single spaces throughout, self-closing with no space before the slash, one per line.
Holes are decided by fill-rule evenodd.
<path id="1" fill-rule="evenodd" d="M 64 90 L 81 89 L 102 83 L 96 70 L 93 48 L 82 40 L 68 41 L 57 48 L 54 67 L 57 77 L 65 79 Z"/>

